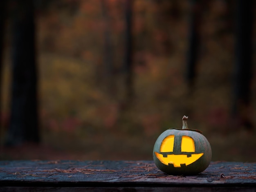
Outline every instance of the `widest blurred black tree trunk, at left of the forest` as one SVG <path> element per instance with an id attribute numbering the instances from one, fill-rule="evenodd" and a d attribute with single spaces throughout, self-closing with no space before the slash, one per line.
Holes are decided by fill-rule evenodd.
<path id="1" fill-rule="evenodd" d="M 7 145 L 39 142 L 34 2 L 14 2 L 13 81 Z"/>

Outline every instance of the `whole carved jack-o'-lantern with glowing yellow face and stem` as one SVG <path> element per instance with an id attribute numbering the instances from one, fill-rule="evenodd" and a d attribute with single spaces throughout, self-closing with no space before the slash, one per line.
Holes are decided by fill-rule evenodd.
<path id="1" fill-rule="evenodd" d="M 198 174 L 211 162 L 210 143 L 202 132 L 188 129 L 187 119 L 182 118 L 182 129 L 168 129 L 155 142 L 155 165 L 167 174 Z"/>

